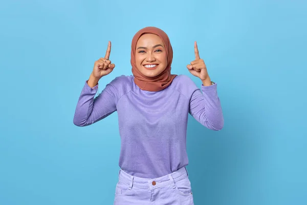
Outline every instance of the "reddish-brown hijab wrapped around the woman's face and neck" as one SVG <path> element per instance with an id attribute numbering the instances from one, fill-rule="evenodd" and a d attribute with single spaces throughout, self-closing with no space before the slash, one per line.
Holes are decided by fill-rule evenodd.
<path id="1" fill-rule="evenodd" d="M 141 35 L 143 35 L 144 33 L 152 33 L 160 36 L 166 49 L 167 66 L 162 73 L 160 73 L 158 76 L 155 77 L 147 77 L 143 75 L 139 71 L 136 65 L 135 52 L 136 52 L 137 42 L 141 37 Z M 156 27 L 145 27 L 140 31 L 138 31 L 133 37 L 131 44 L 131 66 L 132 66 L 132 73 L 135 77 L 134 78 L 135 84 L 137 84 L 137 86 L 139 86 L 141 90 L 147 90 L 147 91 L 161 91 L 167 88 L 171 84 L 172 80 L 177 76 L 170 74 L 172 57 L 173 57 L 172 47 L 170 45 L 169 38 L 164 31 Z"/>

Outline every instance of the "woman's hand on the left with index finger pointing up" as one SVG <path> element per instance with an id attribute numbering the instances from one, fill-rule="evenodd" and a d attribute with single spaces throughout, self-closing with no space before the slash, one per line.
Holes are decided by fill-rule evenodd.
<path id="1" fill-rule="evenodd" d="M 100 79 L 102 76 L 105 76 L 113 71 L 115 68 L 114 64 L 111 64 L 111 60 L 109 60 L 109 56 L 111 53 L 111 42 L 108 42 L 106 53 L 104 58 L 99 58 L 95 61 L 92 75 Z"/>

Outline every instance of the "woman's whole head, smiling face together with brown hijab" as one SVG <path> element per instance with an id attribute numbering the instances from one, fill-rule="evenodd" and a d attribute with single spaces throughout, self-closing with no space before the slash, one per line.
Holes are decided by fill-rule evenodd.
<path id="1" fill-rule="evenodd" d="M 170 40 L 161 29 L 146 27 L 135 34 L 131 65 L 135 83 L 142 90 L 160 91 L 171 84 L 177 76 L 170 73 L 172 52 Z"/>

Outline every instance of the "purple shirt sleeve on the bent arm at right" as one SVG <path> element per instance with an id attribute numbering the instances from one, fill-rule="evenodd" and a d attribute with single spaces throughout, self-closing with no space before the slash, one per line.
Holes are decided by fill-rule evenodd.
<path id="1" fill-rule="evenodd" d="M 201 90 L 193 92 L 189 113 L 208 129 L 221 130 L 224 126 L 224 117 L 220 98 L 217 96 L 217 84 L 202 85 Z"/>

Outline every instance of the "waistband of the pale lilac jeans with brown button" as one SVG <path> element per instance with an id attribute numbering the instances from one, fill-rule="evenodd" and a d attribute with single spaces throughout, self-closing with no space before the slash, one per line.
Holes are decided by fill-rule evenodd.
<path id="1" fill-rule="evenodd" d="M 173 185 L 175 186 L 176 181 L 179 181 L 184 177 L 188 177 L 188 171 L 186 167 L 182 167 L 175 172 L 153 179 L 132 176 L 124 172 L 123 170 L 119 170 L 118 175 L 119 180 L 129 185 L 129 189 L 131 189 L 132 187 L 142 189 L 157 189 L 160 187 L 167 186 L 171 183 L 173 183 Z"/>

